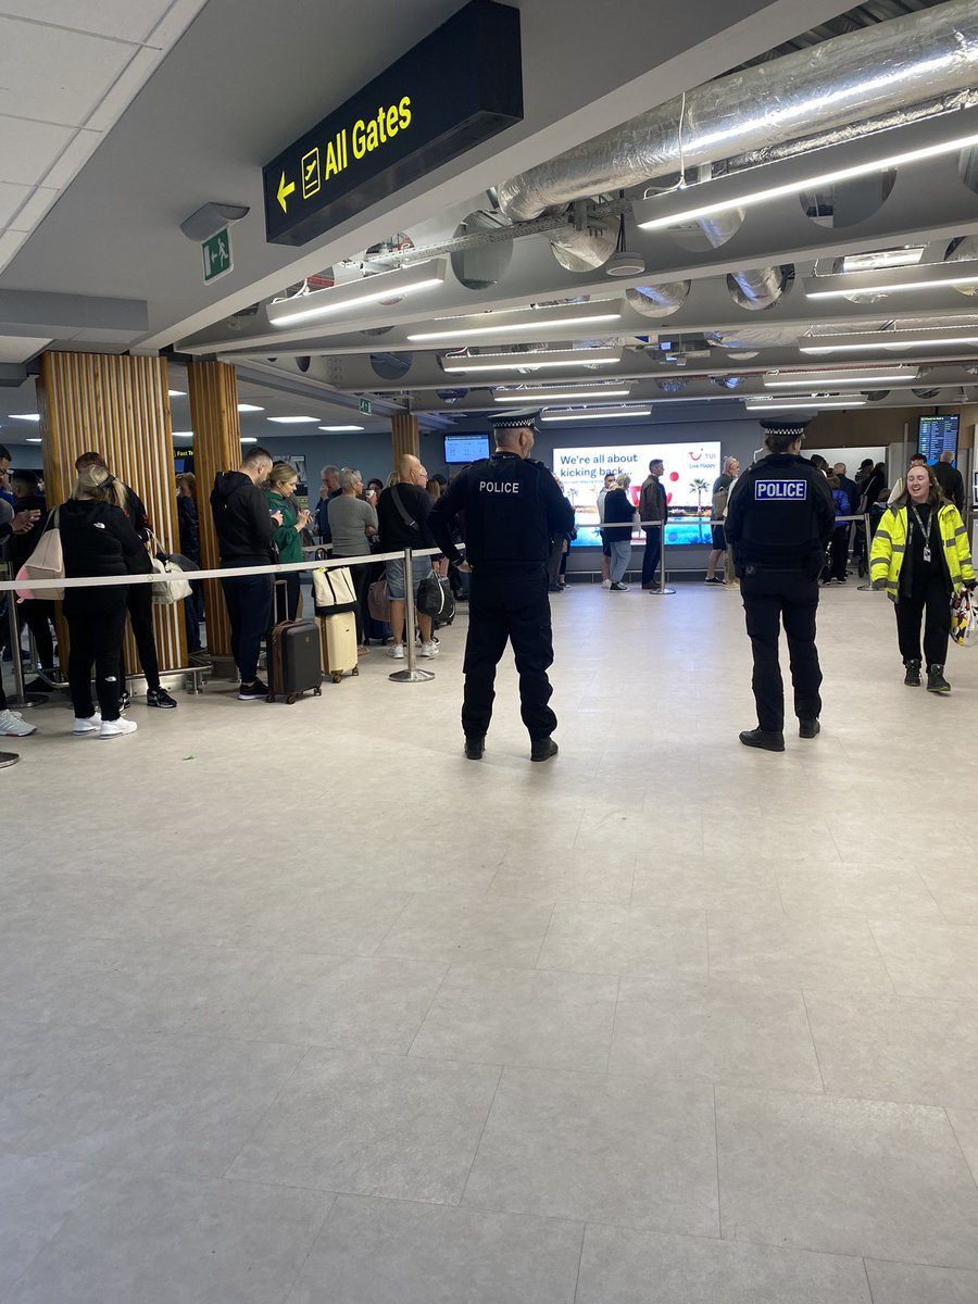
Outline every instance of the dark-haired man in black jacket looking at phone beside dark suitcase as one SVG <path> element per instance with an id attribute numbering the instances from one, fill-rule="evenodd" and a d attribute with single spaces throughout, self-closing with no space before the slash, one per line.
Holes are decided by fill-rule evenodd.
<path id="1" fill-rule="evenodd" d="M 214 477 L 210 510 L 226 569 L 267 566 L 271 559 L 282 524 L 282 514 L 269 511 L 261 489 L 271 467 L 271 454 L 256 443 L 237 471 L 219 471 Z M 265 702 L 269 690 L 258 678 L 258 655 L 271 617 L 271 575 L 228 575 L 220 587 L 231 623 L 231 652 L 241 675 L 237 700 Z"/>

